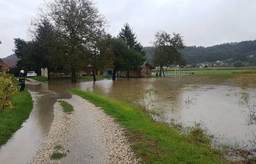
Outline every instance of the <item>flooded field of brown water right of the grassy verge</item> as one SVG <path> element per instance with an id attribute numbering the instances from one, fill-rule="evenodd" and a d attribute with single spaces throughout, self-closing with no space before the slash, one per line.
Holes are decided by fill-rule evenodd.
<path id="1" fill-rule="evenodd" d="M 76 88 L 145 107 L 152 111 L 155 120 L 185 127 L 200 123 L 214 136 L 216 147 L 229 145 L 252 150 L 256 141 L 256 88 L 250 86 L 255 79 L 214 77 L 102 80 L 81 82 Z"/>

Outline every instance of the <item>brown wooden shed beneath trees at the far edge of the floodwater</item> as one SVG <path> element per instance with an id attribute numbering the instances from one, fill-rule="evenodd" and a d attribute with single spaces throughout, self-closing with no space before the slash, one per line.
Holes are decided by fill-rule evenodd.
<path id="1" fill-rule="evenodd" d="M 130 77 L 147 77 L 151 76 L 153 66 L 150 63 L 144 62 L 142 66 L 140 66 L 139 71 L 129 71 Z M 117 77 L 127 77 L 127 71 L 119 71 L 117 72 Z"/>

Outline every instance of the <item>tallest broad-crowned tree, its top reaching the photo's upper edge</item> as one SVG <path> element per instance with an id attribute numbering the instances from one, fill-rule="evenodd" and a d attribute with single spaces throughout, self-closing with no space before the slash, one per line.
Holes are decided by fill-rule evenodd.
<path id="1" fill-rule="evenodd" d="M 97 43 L 97 36 L 105 33 L 105 18 L 90 0 L 53 0 L 45 4 L 40 16 L 51 23 L 62 43 L 63 54 L 54 61 L 64 59 L 71 81 L 76 82 L 76 72 L 88 64 L 88 49 Z"/>

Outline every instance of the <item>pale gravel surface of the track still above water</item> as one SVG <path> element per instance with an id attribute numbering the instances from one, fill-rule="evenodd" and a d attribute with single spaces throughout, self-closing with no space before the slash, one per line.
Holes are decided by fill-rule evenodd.
<path id="1" fill-rule="evenodd" d="M 70 103 L 74 112 L 65 114 L 60 104 L 55 104 L 49 135 L 31 163 L 139 163 L 124 129 L 112 117 L 76 95 L 63 101 Z M 67 155 L 61 160 L 50 159 L 56 145 L 62 146 L 57 152 Z"/>

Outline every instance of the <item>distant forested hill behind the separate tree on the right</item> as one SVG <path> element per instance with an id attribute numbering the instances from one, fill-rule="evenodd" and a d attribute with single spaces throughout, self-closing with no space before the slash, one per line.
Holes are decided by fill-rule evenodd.
<path id="1" fill-rule="evenodd" d="M 152 61 L 154 52 L 152 47 L 144 47 L 147 61 Z M 210 47 L 186 46 L 181 54 L 189 64 L 216 62 L 216 61 L 242 61 L 247 62 L 249 57 L 256 57 L 256 40 L 223 43 Z"/>

